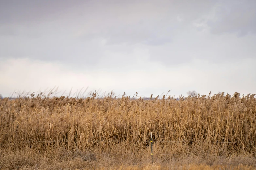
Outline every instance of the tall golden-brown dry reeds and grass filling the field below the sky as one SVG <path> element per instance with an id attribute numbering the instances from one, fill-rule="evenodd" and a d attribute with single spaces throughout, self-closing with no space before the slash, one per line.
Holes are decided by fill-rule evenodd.
<path id="1" fill-rule="evenodd" d="M 255 95 L 5 98 L 0 113 L 2 169 L 256 167 Z"/>

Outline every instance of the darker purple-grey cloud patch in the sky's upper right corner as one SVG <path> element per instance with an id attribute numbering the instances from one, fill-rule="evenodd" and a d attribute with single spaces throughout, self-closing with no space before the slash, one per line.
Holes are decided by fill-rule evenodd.
<path id="1" fill-rule="evenodd" d="M 245 36 L 256 33 L 256 1 L 223 1 L 216 8 L 214 21 L 208 21 L 214 34 L 236 33 Z"/>

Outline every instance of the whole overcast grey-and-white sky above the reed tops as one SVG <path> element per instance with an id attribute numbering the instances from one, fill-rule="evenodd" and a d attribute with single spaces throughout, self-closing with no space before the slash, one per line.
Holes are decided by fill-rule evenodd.
<path id="1" fill-rule="evenodd" d="M 255 9 L 255 0 L 0 0 L 0 94 L 256 93 Z"/>

